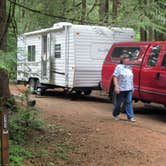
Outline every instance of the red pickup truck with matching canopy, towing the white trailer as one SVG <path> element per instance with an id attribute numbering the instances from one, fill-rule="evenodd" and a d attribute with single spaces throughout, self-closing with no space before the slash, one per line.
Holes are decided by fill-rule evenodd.
<path id="1" fill-rule="evenodd" d="M 115 43 L 108 52 L 103 68 L 101 86 L 112 96 L 113 71 L 125 53 L 131 58 L 134 73 L 135 101 L 155 102 L 166 106 L 166 42 Z"/>

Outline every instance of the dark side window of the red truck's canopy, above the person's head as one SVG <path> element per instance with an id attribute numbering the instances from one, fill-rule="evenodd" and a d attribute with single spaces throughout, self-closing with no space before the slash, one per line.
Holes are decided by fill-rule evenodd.
<path id="1" fill-rule="evenodd" d="M 111 58 L 120 58 L 122 54 L 128 54 L 131 59 L 137 59 L 140 51 L 140 47 L 115 47 Z"/>

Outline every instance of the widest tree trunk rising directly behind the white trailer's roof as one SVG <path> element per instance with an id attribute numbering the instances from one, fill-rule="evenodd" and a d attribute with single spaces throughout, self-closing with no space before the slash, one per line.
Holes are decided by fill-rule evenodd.
<path id="1" fill-rule="evenodd" d="M 99 1 L 99 18 L 101 23 L 108 23 L 109 0 Z"/>

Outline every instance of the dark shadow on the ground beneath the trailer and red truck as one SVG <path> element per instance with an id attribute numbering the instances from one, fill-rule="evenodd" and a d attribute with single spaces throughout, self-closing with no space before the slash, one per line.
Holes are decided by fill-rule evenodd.
<path id="1" fill-rule="evenodd" d="M 64 91 L 47 91 L 42 98 L 61 98 L 65 100 L 73 101 L 87 101 L 87 102 L 100 102 L 100 103 L 110 103 L 110 99 L 106 96 L 100 96 L 99 93 L 96 95 L 85 96 L 78 95 L 76 93 L 65 93 Z M 159 104 L 134 104 L 134 112 L 137 115 L 146 116 L 158 121 L 166 122 L 166 108 Z"/>

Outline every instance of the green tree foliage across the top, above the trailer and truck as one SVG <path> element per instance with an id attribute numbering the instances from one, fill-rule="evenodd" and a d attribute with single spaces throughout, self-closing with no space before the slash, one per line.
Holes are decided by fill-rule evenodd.
<path id="1" fill-rule="evenodd" d="M 68 19 L 58 19 L 33 13 L 25 9 L 16 8 L 16 20 L 18 31 L 20 33 L 32 31 L 35 29 L 52 26 L 58 21 L 69 21 L 70 18 L 81 20 L 82 5 L 81 1 L 73 0 L 55 0 L 55 1 L 19 1 L 26 7 L 39 10 L 51 15 L 63 16 Z M 117 1 L 118 2 L 118 1 Z M 104 3 L 104 1 L 103 1 Z M 109 3 L 108 24 L 116 23 L 116 26 L 129 26 L 136 30 L 140 27 L 153 27 L 156 31 L 165 33 L 166 25 L 166 3 L 164 0 L 159 1 L 140 1 L 140 0 L 121 0 L 117 5 L 118 13 L 116 20 L 112 18 L 112 2 Z M 99 24 L 99 1 L 86 0 L 86 21 Z M 21 19 L 20 19 L 21 18 Z M 80 23 L 80 22 L 77 22 Z"/>

